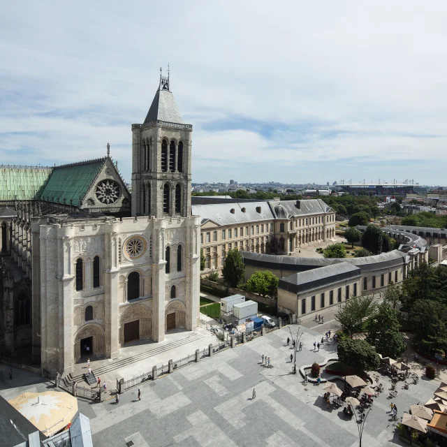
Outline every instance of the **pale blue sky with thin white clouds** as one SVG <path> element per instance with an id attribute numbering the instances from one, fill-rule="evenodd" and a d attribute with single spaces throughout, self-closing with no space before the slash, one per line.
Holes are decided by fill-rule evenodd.
<path id="1" fill-rule="evenodd" d="M 193 182 L 447 186 L 447 2 L 9 1 L 0 163 L 112 157 L 170 64 Z"/>

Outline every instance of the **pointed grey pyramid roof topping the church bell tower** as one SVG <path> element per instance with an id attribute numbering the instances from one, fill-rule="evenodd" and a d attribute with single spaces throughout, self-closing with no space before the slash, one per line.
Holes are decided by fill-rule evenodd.
<path id="1" fill-rule="evenodd" d="M 185 124 L 175 103 L 174 95 L 169 89 L 169 77 L 160 76 L 160 86 L 156 91 L 149 112 L 147 112 L 144 124 L 154 121 Z"/>

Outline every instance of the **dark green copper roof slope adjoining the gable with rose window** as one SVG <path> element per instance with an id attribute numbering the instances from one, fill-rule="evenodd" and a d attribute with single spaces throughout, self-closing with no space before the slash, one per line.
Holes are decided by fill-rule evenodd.
<path id="1" fill-rule="evenodd" d="M 64 203 L 64 199 L 66 203 L 73 200 L 73 205 L 79 205 L 79 200 L 87 193 L 104 162 L 105 158 L 57 166 L 38 198 L 50 202 L 59 199 L 60 203 Z"/>

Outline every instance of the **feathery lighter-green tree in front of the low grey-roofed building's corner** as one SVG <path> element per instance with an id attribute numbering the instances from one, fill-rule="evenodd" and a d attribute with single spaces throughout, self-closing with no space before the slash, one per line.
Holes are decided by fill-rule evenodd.
<path id="1" fill-rule="evenodd" d="M 339 306 L 335 320 L 340 323 L 344 332 L 353 335 L 362 332 L 363 323 L 376 312 L 374 296 L 355 296 Z"/>

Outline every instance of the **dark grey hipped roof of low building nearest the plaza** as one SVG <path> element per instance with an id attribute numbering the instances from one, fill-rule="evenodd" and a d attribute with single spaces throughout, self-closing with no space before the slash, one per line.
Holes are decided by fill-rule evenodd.
<path id="1" fill-rule="evenodd" d="M 291 274 L 289 277 L 279 279 L 278 287 L 292 293 L 304 293 L 334 284 L 335 281 L 360 279 L 361 277 L 360 268 L 350 263 L 342 262 L 314 270 L 307 270 L 307 272 Z"/>

